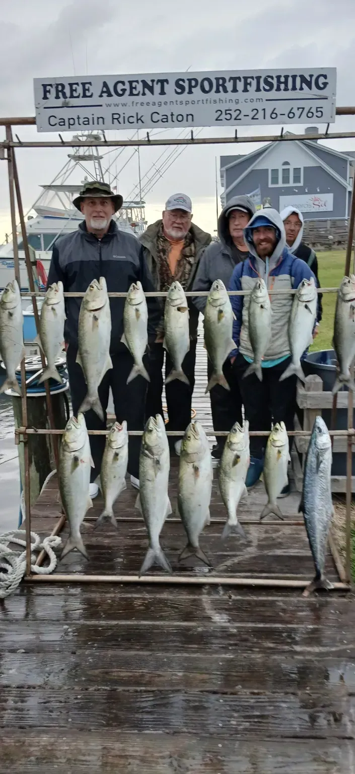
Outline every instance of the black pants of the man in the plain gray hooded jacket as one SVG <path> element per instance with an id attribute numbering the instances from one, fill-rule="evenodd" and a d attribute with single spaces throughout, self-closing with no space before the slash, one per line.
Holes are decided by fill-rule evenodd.
<path id="1" fill-rule="evenodd" d="M 207 361 L 207 378 L 210 381 L 213 368 L 210 360 Z M 243 422 L 241 413 L 241 391 L 230 358 L 224 363 L 224 376 L 230 386 L 230 392 L 221 385 L 216 385 L 210 391 L 213 430 L 231 430 L 235 422 Z M 225 437 L 217 436 L 217 444 L 224 446 Z"/>

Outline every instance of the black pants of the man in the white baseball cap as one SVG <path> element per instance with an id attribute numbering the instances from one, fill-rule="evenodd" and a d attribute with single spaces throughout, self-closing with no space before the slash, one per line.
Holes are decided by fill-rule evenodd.
<path id="1" fill-rule="evenodd" d="M 149 351 L 148 372 L 150 384 L 148 385 L 147 399 L 145 404 L 145 417 L 161 414 L 162 411 L 162 367 L 164 365 L 164 353 L 166 350 L 162 344 L 151 344 Z M 166 430 L 182 430 L 182 435 L 186 427 L 191 422 L 191 403 L 193 399 L 193 388 L 195 386 L 195 361 L 196 361 L 196 340 L 190 341 L 189 351 L 183 360 L 183 372 L 189 379 L 189 387 L 179 379 L 174 379 L 166 385 L 166 405 L 168 408 L 169 423 Z M 172 371 L 172 361 L 166 352 L 166 376 Z M 175 442 L 178 437 L 173 437 Z M 172 442 L 170 441 L 172 446 Z"/>

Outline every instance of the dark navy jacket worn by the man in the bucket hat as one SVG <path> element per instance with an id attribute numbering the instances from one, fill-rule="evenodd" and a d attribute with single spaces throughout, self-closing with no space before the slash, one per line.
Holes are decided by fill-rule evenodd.
<path id="1" fill-rule="evenodd" d="M 87 231 L 85 221 L 77 231 L 60 237 L 53 246 L 48 286 L 63 283 L 64 293 L 85 293 L 93 279 L 104 277 L 108 293 L 127 293 L 131 283 L 139 281 L 145 293 L 154 291 L 152 277 L 145 263 L 143 250 L 132 234 L 119 231 L 111 221 L 108 233 L 98 239 Z M 65 341 L 77 347 L 77 327 L 81 298 L 66 299 L 67 320 Z M 155 340 L 160 319 L 160 307 L 155 298 L 147 298 L 148 341 Z M 121 344 L 125 298 L 111 298 L 111 354 L 126 351 Z"/>

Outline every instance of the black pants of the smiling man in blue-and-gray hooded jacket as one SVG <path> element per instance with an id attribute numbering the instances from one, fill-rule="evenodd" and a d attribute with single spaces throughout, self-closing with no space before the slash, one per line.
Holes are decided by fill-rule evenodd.
<path id="1" fill-rule="evenodd" d="M 249 363 L 242 354 L 237 354 L 234 373 L 239 382 L 249 430 L 271 430 L 271 421 L 285 422 L 286 430 L 293 430 L 297 376 L 294 374 L 285 382 L 278 381 L 290 362 L 291 358 L 287 358 L 272 368 L 263 368 L 263 379 L 259 382 L 255 374 L 242 378 Z M 288 440 L 291 449 L 292 437 Z M 266 441 L 265 436 L 251 437 L 251 457 L 262 457 Z"/>

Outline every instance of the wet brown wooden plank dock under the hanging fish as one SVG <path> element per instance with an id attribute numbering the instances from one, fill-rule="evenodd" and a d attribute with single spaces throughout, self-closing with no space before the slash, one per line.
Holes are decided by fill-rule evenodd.
<path id="1" fill-rule="evenodd" d="M 194 406 L 208 425 L 200 357 Z M 161 540 L 174 572 L 312 577 L 305 529 L 291 523 L 302 521 L 299 494 L 279 501 L 285 523 L 259 525 L 259 483 L 241 504 L 247 541 L 222 541 L 217 475 L 200 539 L 213 570 L 198 560 L 180 567 L 176 483 L 175 460 Z M 100 495 L 82 529 L 89 560 L 71 553 L 56 573 L 137 574 L 148 541 L 136 495 L 128 483 L 117 530 L 94 529 Z M 32 529 L 48 535 L 59 515 L 52 478 Z M 337 580 L 330 554 L 326 574 Z M 351 594 L 37 582 L 0 603 L 0 772 L 353 774 L 354 717 Z"/>

